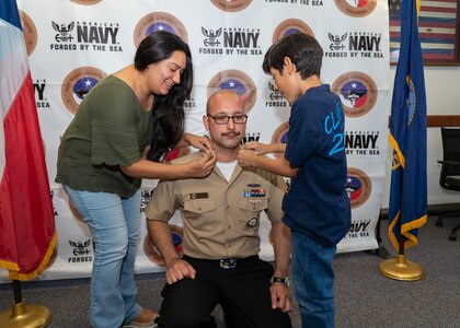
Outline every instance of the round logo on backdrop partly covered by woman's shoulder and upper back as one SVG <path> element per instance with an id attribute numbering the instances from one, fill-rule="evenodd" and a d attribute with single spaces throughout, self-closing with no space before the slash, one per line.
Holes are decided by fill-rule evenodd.
<path id="1" fill-rule="evenodd" d="M 60 95 L 66 108 L 76 114 L 81 101 L 107 74 L 93 67 L 74 69 L 62 81 Z"/>

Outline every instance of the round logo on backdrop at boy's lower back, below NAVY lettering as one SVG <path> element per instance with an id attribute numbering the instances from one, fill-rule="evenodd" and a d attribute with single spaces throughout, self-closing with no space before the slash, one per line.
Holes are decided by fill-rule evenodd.
<path id="1" fill-rule="evenodd" d="M 356 209 L 369 199 L 372 192 L 372 184 L 366 173 L 356 167 L 348 167 L 345 189 L 352 209 Z"/>

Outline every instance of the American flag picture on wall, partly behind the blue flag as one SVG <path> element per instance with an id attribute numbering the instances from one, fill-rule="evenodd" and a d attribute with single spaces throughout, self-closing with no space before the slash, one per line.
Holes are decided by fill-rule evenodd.
<path id="1" fill-rule="evenodd" d="M 398 61 L 401 40 L 401 0 L 390 0 L 390 57 Z M 421 1 L 418 32 L 425 63 L 457 61 L 457 0 Z"/>

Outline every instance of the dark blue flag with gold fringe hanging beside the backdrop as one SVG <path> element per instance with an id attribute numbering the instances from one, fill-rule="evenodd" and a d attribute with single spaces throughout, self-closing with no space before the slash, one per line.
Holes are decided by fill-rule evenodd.
<path id="1" fill-rule="evenodd" d="M 426 96 L 416 0 L 401 3 L 401 48 L 391 103 L 389 142 L 393 148 L 389 237 L 399 250 L 418 243 L 427 219 Z"/>

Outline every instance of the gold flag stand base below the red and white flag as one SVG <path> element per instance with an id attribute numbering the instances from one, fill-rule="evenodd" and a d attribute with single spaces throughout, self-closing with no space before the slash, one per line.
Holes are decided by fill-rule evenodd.
<path id="1" fill-rule="evenodd" d="M 48 326 L 51 314 L 42 305 L 13 304 L 10 311 L 0 313 L 0 327 L 42 328 Z"/>

